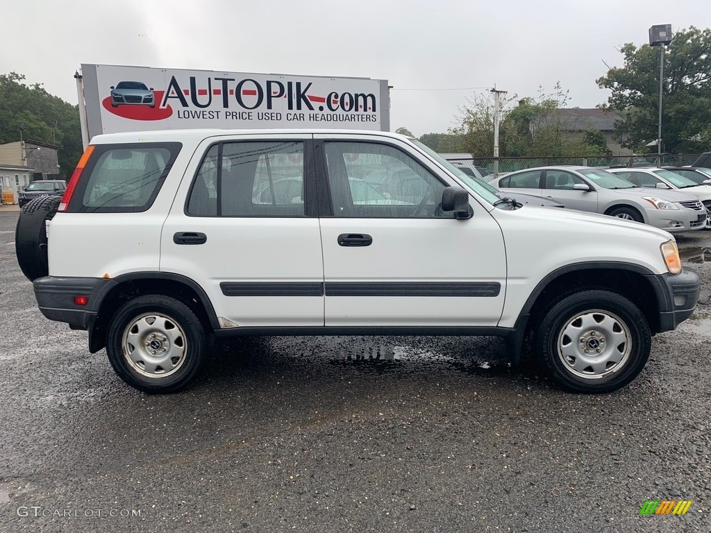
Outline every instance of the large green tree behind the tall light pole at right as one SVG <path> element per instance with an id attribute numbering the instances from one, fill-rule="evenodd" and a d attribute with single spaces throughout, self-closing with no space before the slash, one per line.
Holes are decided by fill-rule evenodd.
<path id="1" fill-rule="evenodd" d="M 658 47 L 626 43 L 624 66 L 610 68 L 597 85 L 611 90 L 604 107 L 626 110 L 616 124 L 624 146 L 642 150 L 657 138 L 659 113 Z M 711 29 L 677 31 L 664 57 L 662 85 L 663 150 L 697 152 L 711 148 Z"/>

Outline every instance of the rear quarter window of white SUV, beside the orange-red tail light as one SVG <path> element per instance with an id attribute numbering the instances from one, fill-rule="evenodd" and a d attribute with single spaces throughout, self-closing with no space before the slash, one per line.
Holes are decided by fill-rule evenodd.
<path id="1" fill-rule="evenodd" d="M 68 212 L 148 210 L 181 146 L 180 143 L 96 145 Z"/>

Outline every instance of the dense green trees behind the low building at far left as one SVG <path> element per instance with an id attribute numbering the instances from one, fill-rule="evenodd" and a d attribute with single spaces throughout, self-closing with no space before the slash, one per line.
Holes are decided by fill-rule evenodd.
<path id="1" fill-rule="evenodd" d="M 60 172 L 70 176 L 82 154 L 79 108 L 24 80 L 16 72 L 0 75 L 0 143 L 19 141 L 22 126 L 23 139 L 59 146 Z"/>

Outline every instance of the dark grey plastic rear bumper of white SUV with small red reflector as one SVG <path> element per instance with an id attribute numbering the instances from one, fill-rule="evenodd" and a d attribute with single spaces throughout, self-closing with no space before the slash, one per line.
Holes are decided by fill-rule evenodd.
<path id="1" fill-rule="evenodd" d="M 66 322 L 87 329 L 99 313 L 103 296 L 117 285 L 113 279 L 46 276 L 32 282 L 37 305 L 50 321 Z M 87 303 L 75 303 L 86 296 Z"/>

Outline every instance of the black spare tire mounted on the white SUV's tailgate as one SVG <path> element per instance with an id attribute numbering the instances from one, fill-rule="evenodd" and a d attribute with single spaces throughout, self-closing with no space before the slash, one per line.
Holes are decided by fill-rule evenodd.
<path id="1" fill-rule="evenodd" d="M 30 281 L 49 275 L 45 221 L 52 220 L 61 200 L 60 195 L 41 196 L 23 205 L 20 211 L 15 253 L 22 273 Z"/>

